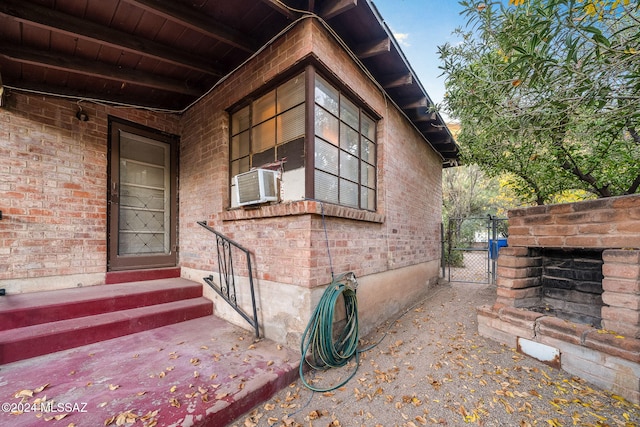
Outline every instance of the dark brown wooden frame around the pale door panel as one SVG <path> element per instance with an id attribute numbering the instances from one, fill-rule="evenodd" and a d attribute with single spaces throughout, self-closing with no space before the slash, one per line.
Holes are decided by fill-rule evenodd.
<path id="1" fill-rule="evenodd" d="M 107 149 L 107 271 L 175 267 L 178 262 L 178 153 L 180 138 L 137 123 L 109 116 Z M 161 255 L 118 254 L 120 199 L 120 132 L 125 131 L 169 145 L 170 250 Z"/>

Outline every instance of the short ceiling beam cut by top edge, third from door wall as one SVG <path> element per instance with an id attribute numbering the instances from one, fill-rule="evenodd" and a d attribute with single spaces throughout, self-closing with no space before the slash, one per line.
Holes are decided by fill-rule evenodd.
<path id="1" fill-rule="evenodd" d="M 254 53 L 258 50 L 257 43 L 245 34 L 222 22 L 215 21 L 202 13 L 190 9 L 175 0 L 123 0 L 136 7 L 146 10 L 168 21 L 175 22 L 207 37 L 215 38 L 225 44 Z"/>

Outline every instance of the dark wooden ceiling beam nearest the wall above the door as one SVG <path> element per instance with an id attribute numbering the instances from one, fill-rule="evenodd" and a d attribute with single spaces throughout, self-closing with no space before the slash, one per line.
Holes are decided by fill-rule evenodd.
<path id="1" fill-rule="evenodd" d="M 187 87 L 181 81 L 155 76 L 138 70 L 105 66 L 104 64 L 98 64 L 94 61 L 86 61 L 52 52 L 0 44 L 0 55 L 24 64 L 113 80 L 121 82 L 122 84 L 145 86 L 190 96 L 199 96 L 202 94 L 202 90 Z"/>

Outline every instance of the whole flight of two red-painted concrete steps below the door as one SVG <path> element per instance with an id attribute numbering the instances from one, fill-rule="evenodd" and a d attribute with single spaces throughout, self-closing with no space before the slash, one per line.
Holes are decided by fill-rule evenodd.
<path id="1" fill-rule="evenodd" d="M 162 279 L 0 297 L 0 364 L 213 314 L 202 285 Z"/>

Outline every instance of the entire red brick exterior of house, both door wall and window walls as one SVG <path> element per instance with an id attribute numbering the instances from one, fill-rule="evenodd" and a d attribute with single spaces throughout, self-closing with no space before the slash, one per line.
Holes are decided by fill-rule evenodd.
<path id="1" fill-rule="evenodd" d="M 89 121 L 80 122 L 75 101 L 12 92 L 0 109 L 0 286 L 13 279 L 106 272 L 109 115 L 181 138 L 181 266 L 215 269 L 214 240 L 196 224 L 208 220 L 254 251 L 258 279 L 306 288 L 326 284 L 330 265 L 318 204 L 228 211 L 226 109 L 309 57 L 326 64 L 382 117 L 377 212 L 325 207 L 334 271 L 361 277 L 437 263 L 441 158 L 332 36 L 308 19 L 181 115 L 82 102 Z"/>

